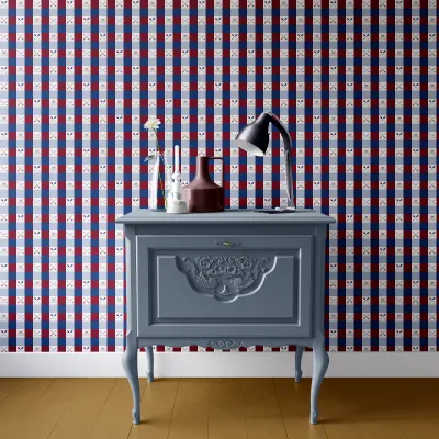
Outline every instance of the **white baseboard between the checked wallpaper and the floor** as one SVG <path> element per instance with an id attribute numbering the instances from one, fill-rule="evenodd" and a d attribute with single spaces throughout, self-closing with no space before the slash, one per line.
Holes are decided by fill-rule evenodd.
<path id="1" fill-rule="evenodd" d="M 121 353 L 0 353 L 0 376 L 124 376 Z M 329 353 L 326 376 L 439 378 L 439 352 Z M 146 376 L 139 352 L 139 375 Z M 312 353 L 303 354 L 304 376 L 312 374 Z M 159 352 L 156 376 L 293 376 L 293 352 Z"/>

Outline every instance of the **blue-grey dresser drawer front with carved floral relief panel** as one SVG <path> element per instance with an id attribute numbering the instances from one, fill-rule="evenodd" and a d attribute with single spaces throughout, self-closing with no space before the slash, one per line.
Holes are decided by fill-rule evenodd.
<path id="1" fill-rule="evenodd" d="M 313 235 L 137 236 L 139 337 L 308 337 Z"/>

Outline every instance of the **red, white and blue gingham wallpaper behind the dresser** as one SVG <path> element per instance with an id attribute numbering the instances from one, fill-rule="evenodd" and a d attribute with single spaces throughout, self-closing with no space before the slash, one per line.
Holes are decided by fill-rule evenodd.
<path id="1" fill-rule="evenodd" d="M 262 111 L 292 134 L 297 204 L 338 221 L 328 349 L 437 350 L 436 0 L 3 0 L 0 351 L 122 350 L 114 219 L 148 204 L 143 123 L 185 181 L 223 156 L 227 205 L 251 209 L 284 193 L 278 133 L 263 159 L 230 146 Z"/>

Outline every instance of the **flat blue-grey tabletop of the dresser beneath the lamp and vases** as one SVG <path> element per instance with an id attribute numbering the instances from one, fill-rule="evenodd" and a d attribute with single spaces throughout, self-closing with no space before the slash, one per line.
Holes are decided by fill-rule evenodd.
<path id="1" fill-rule="evenodd" d="M 136 209 L 116 219 L 117 224 L 334 224 L 335 222 L 336 219 L 331 216 L 311 209 L 297 209 L 295 213 L 284 214 L 267 214 L 261 213 L 261 211 L 230 209 L 217 213 L 189 213 L 184 215 Z"/>

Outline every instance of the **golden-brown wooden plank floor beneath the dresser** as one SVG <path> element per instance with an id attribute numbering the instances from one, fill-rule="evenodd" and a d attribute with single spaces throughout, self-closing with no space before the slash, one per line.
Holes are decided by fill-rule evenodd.
<path id="1" fill-rule="evenodd" d="M 439 380 L 325 379 L 308 424 L 309 379 L 140 380 L 132 425 L 125 379 L 0 379 L 0 438 L 439 438 Z"/>

